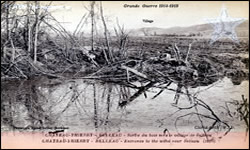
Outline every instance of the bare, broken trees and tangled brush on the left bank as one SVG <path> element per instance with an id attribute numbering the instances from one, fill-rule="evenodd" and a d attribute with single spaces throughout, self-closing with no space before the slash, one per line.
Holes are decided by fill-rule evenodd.
<path id="1" fill-rule="evenodd" d="M 51 14 L 50 6 L 52 2 L 44 5 L 45 4 L 41 5 L 38 1 L 25 2 L 22 5 L 15 1 L 2 2 L 2 77 L 28 78 L 39 74 L 54 74 L 54 76 L 58 75 L 60 77 L 61 75 L 59 74 L 67 72 L 77 73 L 77 75 L 82 73 L 84 76 L 96 72 L 99 76 L 102 76 L 122 73 L 123 71 L 119 69 L 119 66 L 122 66 L 121 69 L 126 67 L 130 72 L 133 70 L 133 75 L 137 72 L 136 75 L 139 75 L 139 77 L 142 77 L 142 74 L 144 74 L 143 76 L 145 77 L 149 75 L 145 75 L 143 70 L 133 69 L 133 67 L 147 66 L 147 68 L 155 68 L 155 66 L 160 65 L 160 63 L 169 64 L 170 62 L 175 62 L 175 60 L 179 61 L 180 57 L 183 57 L 181 55 L 185 56 L 185 58 L 183 57 L 183 63 L 187 63 L 187 60 L 197 53 L 198 47 L 191 46 L 192 43 L 189 42 L 189 40 L 184 41 L 189 45 L 189 48 L 186 49 L 178 47 L 180 40 L 170 38 L 166 44 L 173 46 L 167 49 L 167 51 L 171 52 L 172 60 L 162 60 L 160 57 L 169 52 L 162 49 L 160 45 L 156 43 L 152 43 L 148 46 L 156 47 L 156 51 L 162 53 L 162 56 L 157 56 L 155 52 L 150 52 L 148 50 L 150 47 L 145 46 L 147 39 L 145 39 L 144 42 L 140 42 L 139 38 L 130 37 L 129 31 L 120 25 L 118 18 L 116 18 L 115 21 L 116 27 L 113 29 L 115 34 L 111 35 L 112 29 L 107 26 L 102 2 L 91 2 L 88 8 L 85 8 L 88 9 L 88 13 L 82 15 L 79 24 L 72 34 Z M 25 7 L 19 8 L 18 6 Z M 90 21 L 90 24 L 88 24 L 88 21 Z M 102 26 L 100 33 L 98 33 L 100 30 L 96 28 L 97 22 Z M 91 27 L 90 37 L 84 36 L 83 34 L 84 27 L 86 26 Z M 156 36 L 155 40 L 159 38 L 161 37 Z M 136 45 L 142 44 L 136 51 L 132 50 L 137 49 L 137 47 L 132 46 L 134 42 Z M 201 42 L 202 41 L 198 43 Z M 204 44 L 206 44 L 206 42 L 203 42 L 203 45 Z M 191 47 L 193 47 L 193 50 Z M 237 47 L 239 47 L 237 49 L 247 51 L 247 47 L 245 47 L 244 43 Z M 203 48 L 209 49 L 209 47 Z M 196 65 L 194 69 L 201 71 L 201 68 L 197 68 L 197 64 L 199 65 L 201 61 L 207 63 L 207 67 L 217 67 L 217 65 L 211 62 L 211 60 L 217 59 L 214 56 L 209 56 L 213 57 L 209 60 L 202 59 L 202 57 L 203 56 L 190 58 L 191 64 L 189 68 Z M 244 67 L 248 60 L 245 58 L 242 59 L 244 60 L 239 63 Z M 218 63 L 220 64 L 225 62 L 224 60 L 216 61 L 219 61 Z M 133 64 L 132 68 L 128 68 L 129 66 L 124 65 L 127 63 L 135 64 Z M 230 66 L 224 65 L 221 67 L 228 70 Z M 236 69 L 240 70 L 241 68 L 239 67 Z M 102 72 L 100 70 L 101 68 L 113 69 L 111 69 L 111 72 Z M 159 69 L 158 72 L 163 73 L 162 71 L 164 71 L 163 69 L 165 68 L 161 67 Z M 217 70 L 220 69 L 217 68 Z M 150 74 L 150 72 L 148 73 Z M 229 75 L 229 73 L 221 73 L 223 75 Z M 125 72 L 122 74 L 127 76 Z M 244 78 L 247 76 L 247 73 L 244 72 L 239 75 Z"/>

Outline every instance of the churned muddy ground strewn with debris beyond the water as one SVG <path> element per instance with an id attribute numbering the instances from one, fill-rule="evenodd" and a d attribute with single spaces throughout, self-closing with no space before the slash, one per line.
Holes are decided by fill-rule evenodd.
<path id="1" fill-rule="evenodd" d="M 87 45 L 89 43 L 88 40 L 85 43 Z M 164 57 L 166 53 L 174 57 L 174 44 L 178 46 L 181 57 L 185 58 L 189 44 L 192 43 L 188 62 L 193 69 L 198 70 L 200 79 L 204 79 L 204 74 L 208 75 L 206 76 L 208 81 L 205 81 L 206 83 L 204 84 L 211 84 L 225 76 L 231 78 L 234 84 L 240 84 L 241 81 L 249 79 L 249 48 L 248 42 L 243 40 L 239 44 L 232 41 L 217 41 L 209 45 L 208 39 L 167 38 L 163 36 L 130 37 L 125 46 L 126 57 L 121 57 L 121 52 L 117 47 L 115 39 L 110 43 L 110 47 L 114 52 L 114 63 L 109 65 L 104 60 L 101 42 L 95 45 L 94 51 L 87 50 L 98 63 L 99 67 L 96 67 L 83 54 L 81 49 L 72 48 L 69 50 L 68 56 L 65 56 L 63 50 L 59 49 L 57 45 L 46 41 L 39 46 L 38 64 L 35 67 L 31 63 L 32 60 L 30 58 L 21 58 L 14 65 L 2 60 L 1 76 L 2 79 L 32 78 L 34 76 L 56 74 L 60 76 L 67 76 L 68 74 L 72 76 L 73 74 L 74 77 L 82 77 L 92 74 L 102 67 L 109 68 L 104 73 L 105 75 L 119 73 L 124 75 L 124 71 L 112 69 L 112 67 L 119 65 L 119 63 L 126 64 L 131 60 L 135 61 L 135 63 L 142 62 L 144 70 L 141 68 L 139 71 L 143 73 L 150 74 L 148 72 L 152 72 L 152 70 L 148 68 L 156 68 L 160 72 L 164 72 L 166 69 L 169 69 L 165 67 Z M 90 46 L 86 47 L 88 49 Z M 44 51 L 46 52 L 43 53 Z M 25 55 L 25 51 L 19 53 L 24 53 Z M 5 60 L 8 60 L 8 58 Z M 138 64 L 130 65 L 134 67 Z M 171 65 L 170 68 L 172 68 Z M 151 76 L 155 76 L 155 74 L 151 74 Z"/>

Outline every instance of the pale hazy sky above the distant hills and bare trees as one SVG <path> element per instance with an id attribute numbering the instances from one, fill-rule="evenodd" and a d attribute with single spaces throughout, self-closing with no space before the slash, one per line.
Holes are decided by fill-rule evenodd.
<path id="1" fill-rule="evenodd" d="M 49 2 L 42 2 L 46 5 Z M 99 1 L 96 1 L 99 4 Z M 138 8 L 124 7 L 124 5 L 139 5 Z M 157 5 L 157 8 L 143 8 L 143 5 Z M 159 8 L 160 4 L 178 4 L 176 8 Z M 228 14 L 232 18 L 249 18 L 248 1 L 103 1 L 104 15 L 108 27 L 114 27 L 116 18 L 126 29 L 159 27 L 169 28 L 176 26 L 191 26 L 206 23 L 206 18 L 216 18 L 220 15 L 223 5 L 226 6 Z M 53 1 L 53 16 L 66 29 L 73 31 L 82 16 L 88 13 L 90 8 L 88 1 Z M 153 20 L 145 23 L 143 19 Z M 89 25 L 90 26 L 90 25 Z M 88 26 L 88 27 L 89 27 Z M 86 27 L 86 29 L 88 28 Z"/>

